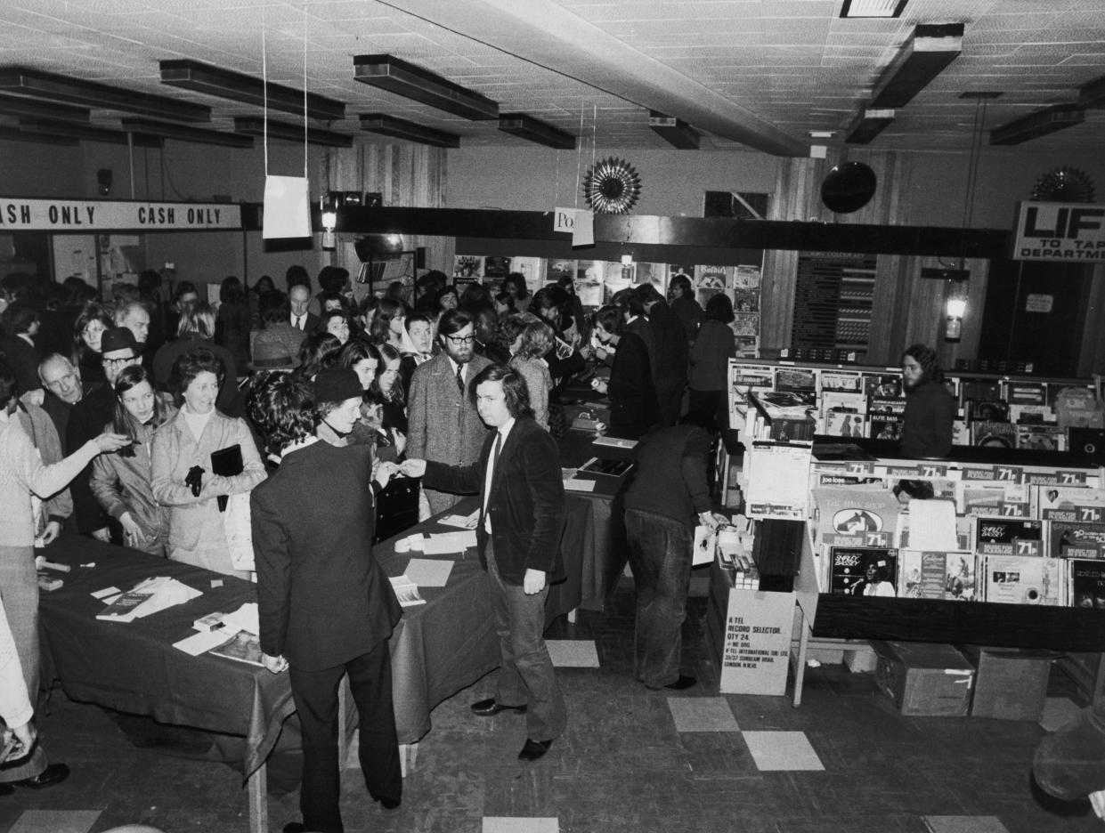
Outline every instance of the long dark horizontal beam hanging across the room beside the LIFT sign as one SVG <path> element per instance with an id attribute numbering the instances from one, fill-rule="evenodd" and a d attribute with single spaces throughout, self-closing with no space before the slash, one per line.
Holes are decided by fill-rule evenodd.
<path id="1" fill-rule="evenodd" d="M 337 230 L 361 234 L 432 234 L 456 238 L 554 240 L 552 212 L 484 209 L 338 209 Z M 730 218 L 598 214 L 594 239 L 608 243 L 861 252 L 872 254 L 1004 257 L 1009 232 L 991 229 L 861 225 Z M 587 249 L 576 250 L 580 253 Z"/>

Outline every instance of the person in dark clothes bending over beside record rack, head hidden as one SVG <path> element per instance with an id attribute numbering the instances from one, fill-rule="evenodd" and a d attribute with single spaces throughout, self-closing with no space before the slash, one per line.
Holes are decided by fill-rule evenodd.
<path id="1" fill-rule="evenodd" d="M 629 563 L 636 586 L 633 676 L 652 689 L 690 688 L 680 674 L 683 621 L 697 524 L 717 529 L 709 508 L 709 435 L 696 425 L 653 431 L 638 447 L 636 476 L 625 493 Z"/>

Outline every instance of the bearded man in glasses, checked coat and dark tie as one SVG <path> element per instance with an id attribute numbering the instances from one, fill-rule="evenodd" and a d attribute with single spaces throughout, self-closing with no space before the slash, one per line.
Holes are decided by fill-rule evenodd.
<path id="1" fill-rule="evenodd" d="M 438 339 L 443 352 L 419 365 L 411 376 L 407 456 L 469 465 L 480 457 L 487 436 L 473 403 L 472 379 L 491 362 L 476 356 L 475 324 L 463 309 L 441 316 Z M 431 488 L 425 496 L 434 515 L 460 500 Z"/>

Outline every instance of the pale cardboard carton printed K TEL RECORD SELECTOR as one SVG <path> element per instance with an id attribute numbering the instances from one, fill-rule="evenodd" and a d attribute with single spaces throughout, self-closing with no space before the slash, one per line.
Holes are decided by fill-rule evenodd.
<path id="1" fill-rule="evenodd" d="M 793 592 L 729 590 L 720 690 L 786 694 L 793 630 Z"/>

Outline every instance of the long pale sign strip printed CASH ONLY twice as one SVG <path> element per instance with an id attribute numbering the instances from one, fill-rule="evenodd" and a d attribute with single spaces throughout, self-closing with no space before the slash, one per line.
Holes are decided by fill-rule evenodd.
<path id="1" fill-rule="evenodd" d="M 212 231 L 241 228 L 242 207 L 234 203 L 0 197 L 0 233 Z"/>

